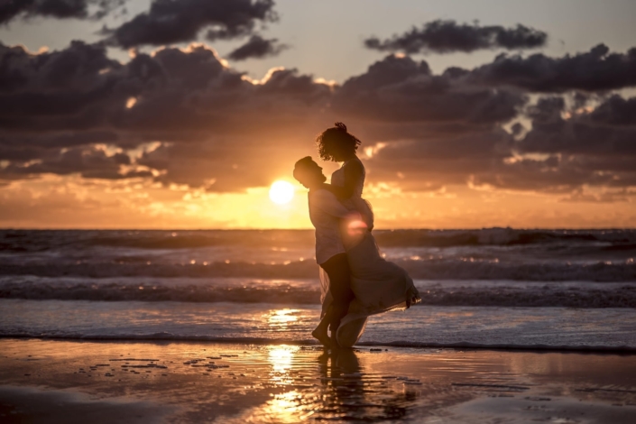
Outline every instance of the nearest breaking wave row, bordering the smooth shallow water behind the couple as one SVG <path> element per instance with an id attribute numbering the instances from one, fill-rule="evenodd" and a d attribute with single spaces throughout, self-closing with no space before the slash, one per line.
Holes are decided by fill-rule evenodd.
<path id="1" fill-rule="evenodd" d="M 419 285 L 421 306 L 478 307 L 566 307 L 566 308 L 636 308 L 636 286 L 612 284 L 611 287 L 585 287 L 559 284 L 514 286 L 498 284 L 479 287 L 443 283 Z M 92 301 L 178 301 L 275 303 L 284 305 L 316 305 L 320 292 L 312 287 L 289 283 L 247 283 L 242 286 L 217 284 L 143 283 L 124 281 L 2 281 L 0 299 L 24 300 L 92 300 Z"/>

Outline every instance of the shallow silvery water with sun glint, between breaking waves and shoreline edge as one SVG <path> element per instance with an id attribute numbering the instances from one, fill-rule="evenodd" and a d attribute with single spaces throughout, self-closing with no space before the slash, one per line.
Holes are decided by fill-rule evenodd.
<path id="1" fill-rule="evenodd" d="M 0 300 L 0 334 L 310 344 L 318 305 Z M 420 306 L 372 317 L 369 346 L 636 351 L 635 309 Z"/>

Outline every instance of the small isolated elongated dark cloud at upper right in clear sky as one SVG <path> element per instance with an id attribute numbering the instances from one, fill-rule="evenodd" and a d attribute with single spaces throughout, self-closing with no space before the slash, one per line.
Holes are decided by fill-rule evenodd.
<path id="1" fill-rule="evenodd" d="M 504 28 L 501 25 L 481 26 L 478 23 L 433 21 L 421 28 L 394 35 L 381 41 L 376 37 L 364 41 L 364 45 L 378 51 L 403 51 L 405 53 L 452 53 L 484 49 L 534 49 L 542 47 L 548 34 L 524 25 Z"/>

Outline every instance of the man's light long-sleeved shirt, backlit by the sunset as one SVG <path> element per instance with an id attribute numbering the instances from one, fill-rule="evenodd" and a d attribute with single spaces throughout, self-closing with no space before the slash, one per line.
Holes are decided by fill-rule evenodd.
<path id="1" fill-rule="evenodd" d="M 340 235 L 340 219 L 349 215 L 349 210 L 330 191 L 309 191 L 309 219 L 316 227 L 316 262 L 326 263 L 338 253 L 345 253 Z"/>

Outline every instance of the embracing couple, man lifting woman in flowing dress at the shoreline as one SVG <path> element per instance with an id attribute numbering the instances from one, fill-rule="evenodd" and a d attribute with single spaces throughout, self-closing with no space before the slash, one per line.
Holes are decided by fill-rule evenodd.
<path id="1" fill-rule="evenodd" d="M 318 135 L 323 161 L 342 162 L 331 175 L 310 156 L 300 159 L 293 175 L 309 189 L 309 218 L 316 228 L 322 313 L 311 333 L 324 346 L 351 347 L 364 333 L 367 318 L 420 301 L 409 274 L 380 254 L 373 230 L 373 209 L 362 198 L 364 164 L 360 145 L 346 125 L 336 123 Z M 329 334 L 330 332 L 330 334 Z"/>

